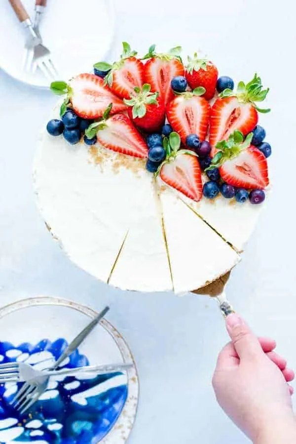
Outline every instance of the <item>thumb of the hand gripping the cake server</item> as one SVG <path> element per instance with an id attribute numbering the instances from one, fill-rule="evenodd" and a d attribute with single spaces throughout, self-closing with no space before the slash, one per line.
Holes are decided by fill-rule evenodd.
<path id="1" fill-rule="evenodd" d="M 227 316 L 226 328 L 240 359 L 262 355 L 258 338 L 239 315 L 233 313 Z"/>

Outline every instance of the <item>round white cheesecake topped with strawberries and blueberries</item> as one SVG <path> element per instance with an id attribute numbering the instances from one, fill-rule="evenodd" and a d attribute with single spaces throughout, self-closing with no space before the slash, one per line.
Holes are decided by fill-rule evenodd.
<path id="1" fill-rule="evenodd" d="M 185 293 L 231 270 L 265 205 L 270 145 L 255 75 L 234 88 L 181 48 L 54 82 L 40 135 L 38 206 L 69 258 L 124 290 Z M 264 203 L 263 203 L 264 202 Z"/>

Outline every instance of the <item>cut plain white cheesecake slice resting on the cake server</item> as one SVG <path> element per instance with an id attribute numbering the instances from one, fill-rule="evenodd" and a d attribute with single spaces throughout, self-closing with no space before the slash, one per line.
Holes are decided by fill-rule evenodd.
<path id="1" fill-rule="evenodd" d="M 162 191 L 160 200 L 176 293 L 200 288 L 239 262 L 234 249 L 174 192 Z"/>

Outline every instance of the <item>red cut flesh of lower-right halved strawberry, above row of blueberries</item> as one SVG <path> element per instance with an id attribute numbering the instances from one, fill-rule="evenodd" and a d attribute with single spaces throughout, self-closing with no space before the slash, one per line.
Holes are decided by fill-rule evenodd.
<path id="1" fill-rule="evenodd" d="M 268 167 L 264 154 L 254 146 L 220 167 L 222 179 L 229 185 L 250 190 L 263 190 L 269 184 Z"/>

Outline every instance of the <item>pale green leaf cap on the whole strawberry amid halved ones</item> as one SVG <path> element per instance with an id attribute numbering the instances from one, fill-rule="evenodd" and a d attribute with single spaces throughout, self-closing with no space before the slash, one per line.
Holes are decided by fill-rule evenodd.
<path id="1" fill-rule="evenodd" d="M 123 102 L 133 107 L 133 119 L 142 119 L 146 115 L 146 105 L 158 105 L 158 92 L 150 92 L 151 86 L 145 83 L 142 89 L 136 86 L 135 92 L 130 94 L 130 99 L 123 99 Z"/>

